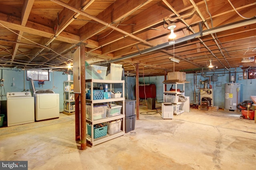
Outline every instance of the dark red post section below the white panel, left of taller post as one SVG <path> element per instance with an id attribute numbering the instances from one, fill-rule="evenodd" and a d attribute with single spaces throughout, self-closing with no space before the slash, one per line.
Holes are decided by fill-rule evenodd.
<path id="1" fill-rule="evenodd" d="M 75 123 L 76 123 L 76 141 L 80 140 L 80 106 L 79 93 L 75 93 Z"/>

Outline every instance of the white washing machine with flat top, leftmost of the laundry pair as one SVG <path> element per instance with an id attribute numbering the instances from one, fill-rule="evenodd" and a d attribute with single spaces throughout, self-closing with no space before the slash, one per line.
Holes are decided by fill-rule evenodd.
<path id="1" fill-rule="evenodd" d="M 7 93 L 7 126 L 35 122 L 34 97 L 31 92 Z"/>

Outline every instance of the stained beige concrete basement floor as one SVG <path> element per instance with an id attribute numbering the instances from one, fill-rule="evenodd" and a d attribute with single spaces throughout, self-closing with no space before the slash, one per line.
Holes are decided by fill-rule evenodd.
<path id="1" fill-rule="evenodd" d="M 152 110 L 140 106 L 144 111 Z M 135 130 L 79 150 L 74 115 L 61 113 L 0 128 L 0 160 L 28 160 L 29 170 L 254 170 L 256 123 L 240 115 L 191 109 L 163 120 L 140 114 Z"/>

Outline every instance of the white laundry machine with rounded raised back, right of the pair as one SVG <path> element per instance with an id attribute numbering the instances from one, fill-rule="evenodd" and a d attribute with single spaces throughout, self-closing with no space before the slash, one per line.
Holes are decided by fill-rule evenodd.
<path id="1" fill-rule="evenodd" d="M 36 121 L 60 117 L 60 95 L 58 93 L 54 93 L 52 90 L 37 90 L 33 96 Z"/>

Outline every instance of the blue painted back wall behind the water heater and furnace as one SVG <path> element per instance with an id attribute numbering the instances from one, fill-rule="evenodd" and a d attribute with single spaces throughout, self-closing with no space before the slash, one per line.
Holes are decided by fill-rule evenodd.
<path id="1" fill-rule="evenodd" d="M 187 73 L 186 74 L 186 81 L 189 83 L 185 83 L 185 96 L 190 97 L 191 103 L 198 103 L 198 92 L 200 88 L 204 88 L 204 85 L 200 83 L 200 79 L 202 81 L 209 79 L 207 76 L 211 75 L 218 75 L 218 81 L 211 82 L 213 91 L 214 91 L 214 105 L 218 106 L 219 108 L 224 108 L 225 106 L 225 83 L 229 82 L 230 75 L 236 75 L 236 83 L 241 83 L 241 101 L 251 100 L 250 96 L 256 95 L 256 79 L 243 79 L 238 80 L 238 75 L 243 75 L 243 70 L 241 68 L 230 69 L 230 74 L 227 70 L 216 70 L 210 72 L 203 72 L 202 75 L 201 71 L 194 76 L 194 73 Z M 195 80 L 195 82 L 194 82 Z M 158 102 L 163 102 L 163 92 L 164 92 L 164 76 L 157 76 L 157 77 L 140 77 L 139 81 L 141 83 L 154 83 L 156 85 L 156 99 Z M 170 89 L 170 85 L 167 85 L 167 89 Z M 208 85 L 209 87 L 209 85 Z M 178 86 L 179 89 L 182 90 L 183 87 Z M 195 88 L 195 89 L 194 89 Z M 196 100 L 194 99 L 194 92 L 196 93 Z"/>

